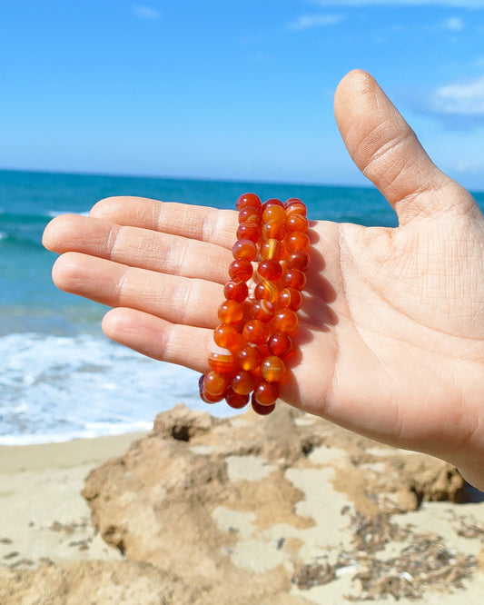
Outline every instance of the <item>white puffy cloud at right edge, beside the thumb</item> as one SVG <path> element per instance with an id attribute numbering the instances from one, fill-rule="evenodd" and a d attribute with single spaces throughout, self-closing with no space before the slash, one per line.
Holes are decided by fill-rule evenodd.
<path id="1" fill-rule="evenodd" d="M 462 118 L 484 117 L 484 75 L 465 84 L 441 86 L 432 95 L 434 113 Z"/>

